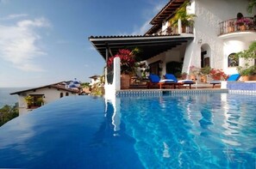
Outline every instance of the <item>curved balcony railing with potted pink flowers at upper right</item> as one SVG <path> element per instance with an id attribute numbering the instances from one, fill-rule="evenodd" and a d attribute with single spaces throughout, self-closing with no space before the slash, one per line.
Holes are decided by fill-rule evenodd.
<path id="1" fill-rule="evenodd" d="M 245 32 L 245 31 L 253 31 L 256 32 L 256 21 L 253 17 L 243 17 L 242 19 L 230 19 L 227 21 L 222 21 L 220 23 L 220 33 L 227 34 L 227 33 L 238 33 L 238 32 Z"/>

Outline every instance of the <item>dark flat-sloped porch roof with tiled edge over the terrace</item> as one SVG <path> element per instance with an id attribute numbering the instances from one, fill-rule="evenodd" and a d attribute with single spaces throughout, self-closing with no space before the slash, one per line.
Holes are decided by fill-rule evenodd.
<path id="1" fill-rule="evenodd" d="M 171 50 L 193 39 L 193 36 L 181 37 L 179 34 L 168 35 L 122 35 L 122 36 L 91 36 L 89 40 L 97 51 L 106 57 L 106 50 L 109 51 L 109 57 L 116 54 L 119 49 L 134 49 L 138 47 L 141 60 L 156 56 L 157 54 Z"/>

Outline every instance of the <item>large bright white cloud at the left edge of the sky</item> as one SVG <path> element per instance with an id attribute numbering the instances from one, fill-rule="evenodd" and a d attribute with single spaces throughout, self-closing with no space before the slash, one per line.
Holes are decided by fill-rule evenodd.
<path id="1" fill-rule="evenodd" d="M 37 45 L 41 36 L 36 31 L 40 27 L 50 27 L 50 23 L 40 18 L 18 21 L 13 26 L 0 24 L 0 57 L 12 63 L 16 69 L 43 71 L 34 60 L 46 54 Z"/>

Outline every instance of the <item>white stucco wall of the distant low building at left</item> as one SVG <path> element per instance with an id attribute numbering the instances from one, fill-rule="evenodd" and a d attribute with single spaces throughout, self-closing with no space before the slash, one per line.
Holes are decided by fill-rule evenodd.
<path id="1" fill-rule="evenodd" d="M 29 94 L 44 94 L 44 98 L 43 98 L 44 104 L 47 104 L 47 103 L 53 102 L 54 100 L 59 100 L 60 93 L 63 93 L 63 97 L 66 96 L 66 93 L 68 93 L 69 96 L 77 95 L 64 90 L 58 90 L 56 88 L 41 88 L 41 89 L 36 89 L 35 91 L 28 91 L 26 93 L 22 93 L 21 95 L 18 95 L 19 115 L 23 115 L 31 111 L 27 109 L 27 103 L 25 101 L 25 97 L 28 96 Z"/>

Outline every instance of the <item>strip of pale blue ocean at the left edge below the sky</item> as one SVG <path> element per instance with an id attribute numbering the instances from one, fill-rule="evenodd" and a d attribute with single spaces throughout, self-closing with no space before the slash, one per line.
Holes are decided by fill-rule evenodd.
<path id="1" fill-rule="evenodd" d="M 16 103 L 18 102 L 18 95 L 10 95 L 10 93 L 25 89 L 27 88 L 0 88 L 0 108 L 5 105 L 16 106 Z"/>

